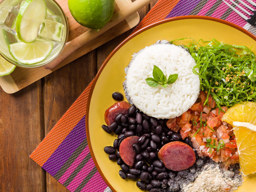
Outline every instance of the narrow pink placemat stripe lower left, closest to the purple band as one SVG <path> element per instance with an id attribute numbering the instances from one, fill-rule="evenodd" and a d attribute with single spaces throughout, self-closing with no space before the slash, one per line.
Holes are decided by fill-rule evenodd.
<path id="1" fill-rule="evenodd" d="M 83 161 L 86 155 L 89 153 L 89 146 L 87 145 L 82 153 L 76 158 L 76 160 L 68 167 L 67 171 L 61 176 L 59 182 L 63 184 L 68 177 L 72 174 L 72 172 L 76 169 L 76 167 Z"/>

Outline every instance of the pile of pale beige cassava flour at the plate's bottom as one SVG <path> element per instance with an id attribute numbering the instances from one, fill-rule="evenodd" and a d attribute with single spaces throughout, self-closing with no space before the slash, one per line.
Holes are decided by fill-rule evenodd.
<path id="1" fill-rule="evenodd" d="M 243 183 L 242 176 L 221 170 L 219 164 L 206 164 L 194 182 L 184 185 L 183 192 L 232 192 Z"/>

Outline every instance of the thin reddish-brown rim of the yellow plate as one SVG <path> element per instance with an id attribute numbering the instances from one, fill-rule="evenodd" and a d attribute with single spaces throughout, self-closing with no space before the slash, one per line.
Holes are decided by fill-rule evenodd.
<path id="1" fill-rule="evenodd" d="M 92 150 L 92 144 L 91 144 L 91 138 L 90 138 L 90 133 L 89 133 L 89 110 L 90 110 L 90 103 L 91 103 L 91 98 L 92 98 L 92 92 L 94 90 L 94 87 L 96 85 L 96 82 L 101 74 L 101 72 L 103 71 L 103 69 L 105 68 L 105 66 L 107 65 L 108 61 L 113 57 L 113 55 L 124 45 L 126 44 L 129 40 L 131 40 L 133 37 L 139 35 L 140 33 L 153 28 L 155 26 L 167 23 L 167 22 L 172 22 L 172 21 L 177 21 L 177 20 L 187 20 L 187 19 L 200 19 L 200 20 L 211 20 L 211 21 L 216 21 L 225 25 L 228 25 L 230 27 L 233 27 L 241 32 L 243 32 L 244 34 L 250 36 L 252 39 L 254 39 L 256 41 L 256 36 L 253 35 L 251 32 L 247 31 L 246 29 L 231 23 L 229 21 L 226 20 L 222 20 L 219 18 L 214 18 L 214 17 L 209 17 L 209 16 L 200 16 L 200 15 L 185 15 L 185 16 L 177 16 L 177 17 L 172 17 L 172 18 L 168 18 L 168 19 L 164 19 L 161 21 L 157 21 L 155 23 L 152 23 L 144 28 L 139 29 L 138 31 L 134 32 L 133 34 L 131 34 L 130 36 L 126 37 L 120 44 L 118 44 L 116 46 L 116 48 L 110 52 L 110 54 L 108 55 L 108 57 L 104 60 L 104 62 L 102 63 L 99 71 L 97 72 L 96 76 L 94 77 L 94 79 L 92 80 L 92 85 L 91 85 L 91 89 L 90 92 L 88 94 L 88 99 L 87 99 L 87 103 L 86 103 L 86 109 L 85 109 L 85 131 L 86 131 L 86 138 L 87 138 L 87 143 L 89 146 L 89 150 L 92 156 L 92 160 L 98 170 L 98 172 L 100 173 L 100 176 L 102 177 L 102 179 L 106 182 L 106 184 L 108 185 L 108 187 L 113 191 L 113 192 L 117 192 L 112 185 L 108 182 L 108 180 L 106 179 L 105 175 L 103 174 L 103 172 L 100 169 L 100 166 L 94 156 L 93 150 Z"/>

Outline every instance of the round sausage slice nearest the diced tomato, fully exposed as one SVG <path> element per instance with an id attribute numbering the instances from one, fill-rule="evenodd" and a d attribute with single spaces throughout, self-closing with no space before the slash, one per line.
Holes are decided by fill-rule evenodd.
<path id="1" fill-rule="evenodd" d="M 173 171 L 188 169 L 196 162 L 194 150 L 188 144 L 181 141 L 165 144 L 157 155 L 165 167 Z"/>

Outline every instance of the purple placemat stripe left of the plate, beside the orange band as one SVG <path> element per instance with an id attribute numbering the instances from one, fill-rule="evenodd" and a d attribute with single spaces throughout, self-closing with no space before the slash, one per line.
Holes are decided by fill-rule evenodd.
<path id="1" fill-rule="evenodd" d="M 54 176 L 85 138 L 84 116 L 44 163 L 42 168 Z"/>

